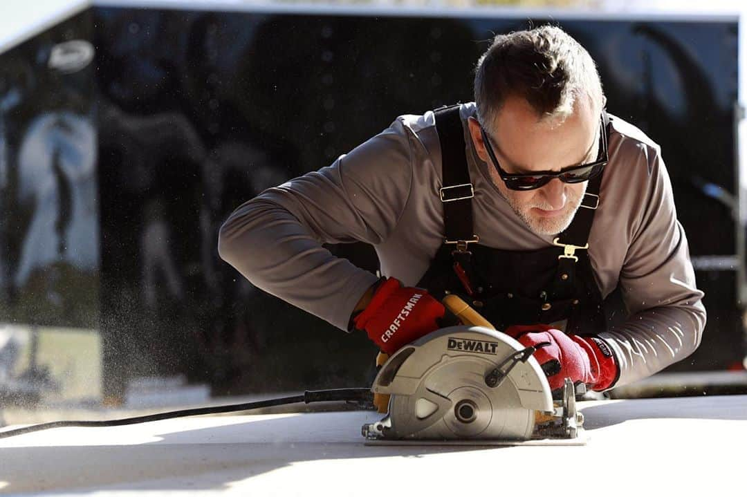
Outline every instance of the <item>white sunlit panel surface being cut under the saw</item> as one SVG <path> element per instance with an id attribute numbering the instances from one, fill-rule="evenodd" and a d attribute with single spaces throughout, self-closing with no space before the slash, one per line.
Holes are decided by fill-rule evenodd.
<path id="1" fill-rule="evenodd" d="M 381 417 L 373 412 L 58 428 L 0 439 L 0 493 L 610 497 L 747 489 L 747 396 L 580 407 L 589 439 L 580 447 L 364 446 L 361 425 Z"/>

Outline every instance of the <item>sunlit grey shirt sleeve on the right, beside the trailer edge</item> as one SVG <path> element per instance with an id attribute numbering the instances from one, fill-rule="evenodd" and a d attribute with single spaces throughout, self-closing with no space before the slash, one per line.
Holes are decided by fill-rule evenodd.
<path id="1" fill-rule="evenodd" d="M 642 185 L 633 193 L 642 207 L 630 224 L 631 242 L 619 281 L 629 317 L 600 334 L 620 366 L 613 386 L 646 378 L 692 354 L 706 322 L 703 293 L 695 286 L 660 150 L 641 145 L 639 151 L 642 163 L 631 173 L 630 184 Z"/>

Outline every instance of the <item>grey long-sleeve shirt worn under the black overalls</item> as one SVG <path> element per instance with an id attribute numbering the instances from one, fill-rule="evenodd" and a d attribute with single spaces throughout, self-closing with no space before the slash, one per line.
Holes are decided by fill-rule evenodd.
<path id="1" fill-rule="evenodd" d="M 474 104 L 462 105 L 480 243 L 523 251 L 551 246 L 552 236 L 533 233 L 518 218 L 477 157 L 466 123 L 474 111 Z M 600 335 L 615 352 L 620 386 L 691 354 L 706 313 L 659 146 L 613 117 L 609 154 L 589 258 L 602 296 L 619 285 L 630 314 Z M 444 240 L 439 188 L 433 112 L 400 116 L 331 166 L 238 207 L 220 230 L 220 256 L 256 287 L 346 329 L 377 278 L 322 243 L 371 243 L 382 275 L 415 285 Z"/>

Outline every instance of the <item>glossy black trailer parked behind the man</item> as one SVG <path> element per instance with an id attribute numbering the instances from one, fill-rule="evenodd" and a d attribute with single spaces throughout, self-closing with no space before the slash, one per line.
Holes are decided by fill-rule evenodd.
<path id="1" fill-rule="evenodd" d="M 109 393 L 121 393 L 134 375 L 176 372 L 210 381 L 217 393 L 362 384 L 374 354 L 368 340 L 244 281 L 217 256 L 220 223 L 241 202 L 328 165 L 399 114 L 471 100 L 474 63 L 492 34 L 528 24 L 96 7 L 3 55 L 4 311 L 28 320 L 24 302 L 37 310 L 44 301 L 46 314 L 34 316 L 69 308 L 67 322 L 80 325 L 79 315 L 95 315 L 81 301 L 97 287 L 84 280 L 97 266 L 68 254 L 75 240 L 100 237 L 84 259 L 98 260 L 100 249 Z M 728 207 L 703 185 L 734 193 L 736 23 L 561 25 L 597 61 L 608 109 L 661 144 L 692 254 L 733 254 Z M 46 71 L 43 48 L 78 37 L 93 37 L 95 73 Z M 87 180 L 96 163 L 87 141 L 95 136 L 91 81 L 98 196 Z M 24 143 L 48 144 L 45 158 L 25 165 L 24 150 L 39 147 Z M 24 190 L 42 177 L 47 190 Z M 93 199 L 86 205 L 97 207 L 100 233 L 95 215 L 78 214 L 81 199 Z M 32 228 L 34 216 L 46 225 Z M 73 232 L 75 240 L 61 236 Z M 46 261 L 36 272 L 20 262 L 34 237 L 54 254 L 30 251 Z M 367 246 L 330 248 L 376 269 Z M 25 286 L 13 284 L 27 272 Z M 61 281 L 68 293 L 58 290 Z M 698 272 L 698 281 L 709 310 L 704 346 L 675 369 L 723 368 L 743 355 L 734 275 Z M 55 295 L 66 304 L 50 304 Z"/>

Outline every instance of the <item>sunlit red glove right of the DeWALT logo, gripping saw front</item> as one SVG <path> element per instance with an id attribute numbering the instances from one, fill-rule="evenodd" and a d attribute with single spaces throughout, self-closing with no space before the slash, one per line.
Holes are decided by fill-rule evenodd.
<path id="1" fill-rule="evenodd" d="M 550 343 L 538 348 L 534 357 L 548 373 L 551 390 L 562 388 L 565 378 L 571 378 L 574 384 L 586 384 L 592 390 L 605 390 L 618 377 L 615 357 L 601 338 L 566 335 L 548 325 L 515 325 L 505 333 L 524 347 Z"/>

